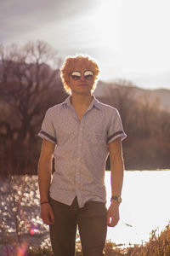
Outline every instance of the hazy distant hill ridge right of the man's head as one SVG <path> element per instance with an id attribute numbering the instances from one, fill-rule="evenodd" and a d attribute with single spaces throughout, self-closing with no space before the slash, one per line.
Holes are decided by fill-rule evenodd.
<path id="1" fill-rule="evenodd" d="M 99 81 L 98 86 L 96 90 L 94 91 L 94 95 L 96 97 L 100 96 L 108 96 L 108 88 L 120 88 L 122 87 L 122 84 L 118 84 L 117 82 L 113 83 L 105 83 L 103 81 Z M 139 98 L 139 100 L 148 101 L 148 102 L 156 102 L 158 104 L 160 109 L 166 109 L 170 111 L 170 90 L 167 89 L 156 89 L 156 90 L 146 90 L 141 89 L 139 87 L 133 86 L 133 85 L 127 85 L 125 86 L 131 90 L 131 97 Z"/>

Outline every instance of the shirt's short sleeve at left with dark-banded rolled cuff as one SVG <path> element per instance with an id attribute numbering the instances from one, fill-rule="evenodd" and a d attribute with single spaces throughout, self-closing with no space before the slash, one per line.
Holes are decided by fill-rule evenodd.
<path id="1" fill-rule="evenodd" d="M 45 114 L 45 117 L 42 121 L 42 130 L 38 133 L 38 136 L 42 137 L 42 139 L 50 141 L 51 143 L 57 143 L 54 125 L 49 110 Z"/>

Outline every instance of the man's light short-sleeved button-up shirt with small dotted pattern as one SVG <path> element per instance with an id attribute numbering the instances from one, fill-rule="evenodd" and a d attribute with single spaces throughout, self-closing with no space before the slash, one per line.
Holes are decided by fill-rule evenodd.
<path id="1" fill-rule="evenodd" d="M 67 205 L 77 196 L 79 207 L 87 201 L 105 202 L 108 143 L 126 137 L 116 108 L 94 97 L 79 121 L 69 96 L 48 109 L 38 135 L 55 144 L 50 196 Z"/>

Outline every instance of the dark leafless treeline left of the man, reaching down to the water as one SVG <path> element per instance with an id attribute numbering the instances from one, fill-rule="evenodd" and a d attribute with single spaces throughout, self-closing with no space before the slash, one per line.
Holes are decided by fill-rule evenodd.
<path id="1" fill-rule="evenodd" d="M 1 175 L 37 172 L 44 113 L 66 96 L 59 65 L 58 53 L 41 41 L 0 46 Z"/>

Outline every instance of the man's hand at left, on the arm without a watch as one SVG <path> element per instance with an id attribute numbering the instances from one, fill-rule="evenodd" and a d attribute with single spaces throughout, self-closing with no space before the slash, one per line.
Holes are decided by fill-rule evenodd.
<path id="1" fill-rule="evenodd" d="M 41 218 L 44 224 L 54 224 L 54 212 L 49 203 L 42 204 Z"/>

